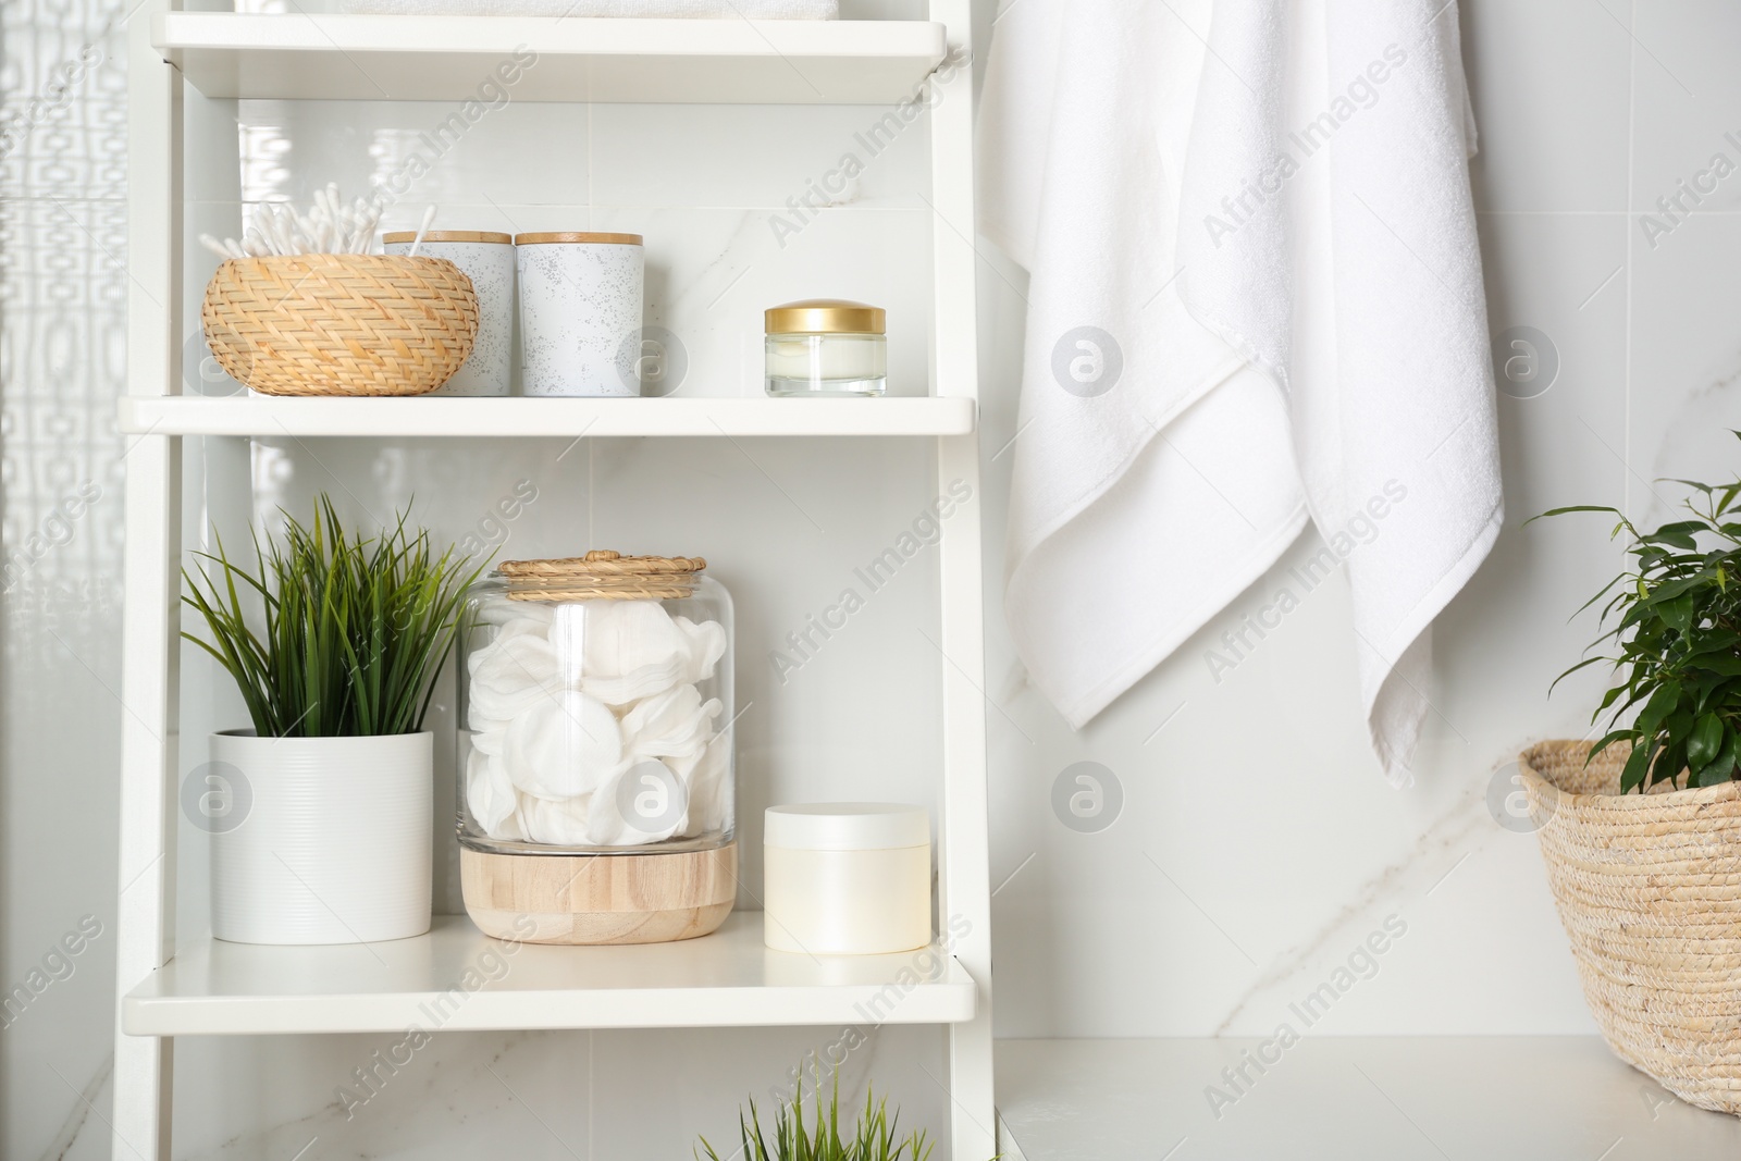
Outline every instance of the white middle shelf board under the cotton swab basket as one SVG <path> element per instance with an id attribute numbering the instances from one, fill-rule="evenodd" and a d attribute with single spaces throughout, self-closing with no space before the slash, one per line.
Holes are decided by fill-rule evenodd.
<path id="1" fill-rule="evenodd" d="M 131 435 L 966 435 L 971 399 L 286 399 L 124 395 Z"/>

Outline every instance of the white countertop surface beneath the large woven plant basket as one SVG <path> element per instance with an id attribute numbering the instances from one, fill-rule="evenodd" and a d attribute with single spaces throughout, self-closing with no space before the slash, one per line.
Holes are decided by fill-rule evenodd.
<path id="1" fill-rule="evenodd" d="M 1005 1161 L 1741 1158 L 1741 1119 L 1675 1100 L 1595 1036 L 1307 1034 L 1236 1090 L 1222 1069 L 1262 1044 L 999 1041 Z"/>

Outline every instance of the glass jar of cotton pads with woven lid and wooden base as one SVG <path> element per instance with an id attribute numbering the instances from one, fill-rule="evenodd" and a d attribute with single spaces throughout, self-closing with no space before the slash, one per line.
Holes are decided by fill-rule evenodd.
<path id="1" fill-rule="evenodd" d="M 460 882 L 486 935 L 656 943 L 731 912 L 731 597 L 705 569 L 588 552 L 474 587 Z"/>

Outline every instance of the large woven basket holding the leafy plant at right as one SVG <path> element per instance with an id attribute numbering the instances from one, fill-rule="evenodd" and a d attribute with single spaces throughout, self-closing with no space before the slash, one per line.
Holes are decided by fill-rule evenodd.
<path id="1" fill-rule="evenodd" d="M 1518 757 L 1584 999 L 1621 1060 L 1741 1114 L 1741 783 L 1623 795 L 1628 748 L 1588 752 Z"/>

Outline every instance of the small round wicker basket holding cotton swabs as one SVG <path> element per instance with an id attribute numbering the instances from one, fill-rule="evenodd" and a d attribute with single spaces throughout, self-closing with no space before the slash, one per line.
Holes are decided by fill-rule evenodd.
<path id="1" fill-rule="evenodd" d="M 477 339 L 477 292 L 446 258 L 232 258 L 205 287 L 205 341 L 266 395 L 423 395 Z"/>

